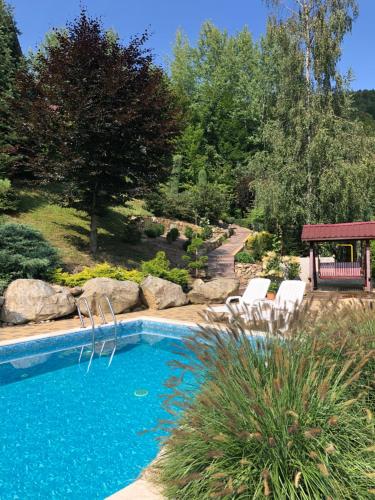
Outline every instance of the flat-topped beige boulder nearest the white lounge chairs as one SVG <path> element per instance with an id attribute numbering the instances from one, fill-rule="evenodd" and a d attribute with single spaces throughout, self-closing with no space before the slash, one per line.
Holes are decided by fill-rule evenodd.
<path id="1" fill-rule="evenodd" d="M 229 296 L 238 294 L 239 284 L 234 278 L 195 280 L 188 297 L 192 304 L 222 304 Z"/>

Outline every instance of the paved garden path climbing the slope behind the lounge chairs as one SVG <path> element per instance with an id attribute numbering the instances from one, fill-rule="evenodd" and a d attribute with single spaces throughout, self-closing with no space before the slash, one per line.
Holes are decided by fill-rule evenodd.
<path id="1" fill-rule="evenodd" d="M 245 227 L 232 227 L 233 236 L 208 254 L 208 275 L 211 278 L 235 278 L 234 256 L 242 250 L 251 231 Z"/>

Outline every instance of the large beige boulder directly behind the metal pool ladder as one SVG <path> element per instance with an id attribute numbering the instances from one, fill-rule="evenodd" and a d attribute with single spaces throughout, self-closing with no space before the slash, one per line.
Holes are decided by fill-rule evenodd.
<path id="1" fill-rule="evenodd" d="M 99 314 L 99 304 L 103 312 L 108 313 L 109 307 L 105 296 L 111 301 L 115 314 L 130 311 L 139 302 L 139 286 L 133 281 L 118 281 L 112 278 L 93 278 L 83 285 L 83 294 L 79 303 L 82 314 L 87 316 L 87 310 L 81 299 L 85 298 L 94 314 Z"/>

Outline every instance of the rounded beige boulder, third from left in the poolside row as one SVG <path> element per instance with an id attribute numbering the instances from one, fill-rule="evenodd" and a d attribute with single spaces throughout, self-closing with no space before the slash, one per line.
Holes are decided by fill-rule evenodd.
<path id="1" fill-rule="evenodd" d="M 180 285 L 170 281 L 148 276 L 141 283 L 144 300 L 150 309 L 168 309 L 188 303 Z"/>

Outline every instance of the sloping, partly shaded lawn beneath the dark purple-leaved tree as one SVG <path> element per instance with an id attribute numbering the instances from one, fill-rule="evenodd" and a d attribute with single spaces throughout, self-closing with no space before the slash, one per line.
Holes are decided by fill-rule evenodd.
<path id="1" fill-rule="evenodd" d="M 101 218 L 99 252 L 94 261 L 89 253 L 89 218 L 84 212 L 57 205 L 51 201 L 50 195 L 41 190 L 22 190 L 20 196 L 17 214 L 8 215 L 6 219 L 28 224 L 40 231 L 59 250 L 64 266 L 70 271 L 104 260 L 135 267 L 141 260 L 154 257 L 158 250 L 165 250 L 174 264 L 180 260 L 182 251 L 179 242 L 169 245 L 164 238 L 157 238 L 130 245 L 122 240 L 129 215 L 151 215 L 141 201 L 111 208 Z"/>

